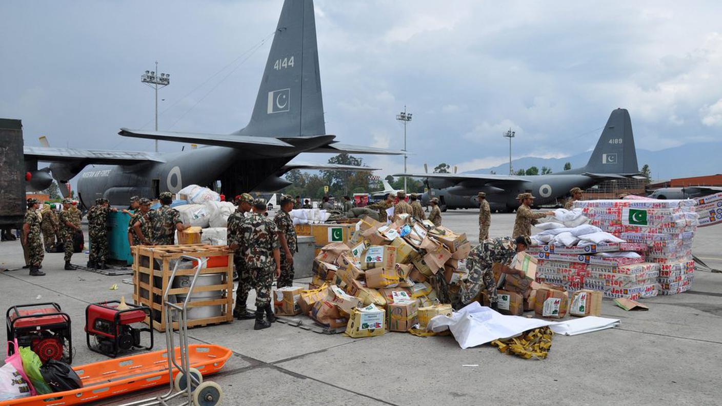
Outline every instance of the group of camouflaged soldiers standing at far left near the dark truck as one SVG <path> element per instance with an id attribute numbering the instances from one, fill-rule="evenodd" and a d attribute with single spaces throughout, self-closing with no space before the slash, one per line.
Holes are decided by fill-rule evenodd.
<path id="1" fill-rule="evenodd" d="M 38 210 L 40 202 L 38 199 L 30 198 L 27 199 L 27 212 L 25 212 L 25 220 L 22 224 L 22 247 L 26 254 L 26 265 L 24 268 L 30 268 L 30 276 L 43 276 L 45 272 L 41 271 L 43 267 L 43 259 L 45 258 L 45 250 L 51 251 L 50 243 L 52 230 L 53 241 L 58 236 L 58 240 L 63 243 L 65 252 L 65 269 L 75 269 L 70 264 L 71 256 L 73 256 L 74 250 L 74 236 L 80 230 L 80 219 L 82 213 L 75 207 L 72 199 L 63 199 L 63 210 L 59 212 L 56 217 L 53 218 L 55 213 L 52 210 L 41 212 Z M 51 225 L 51 230 L 48 230 L 48 236 L 45 236 L 43 230 L 43 224 Z M 45 238 L 45 244 L 40 239 L 40 234 L 43 233 Z"/>

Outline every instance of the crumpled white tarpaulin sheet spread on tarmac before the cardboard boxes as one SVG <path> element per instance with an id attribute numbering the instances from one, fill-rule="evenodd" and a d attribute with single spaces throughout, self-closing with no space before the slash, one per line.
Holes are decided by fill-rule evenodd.
<path id="1" fill-rule="evenodd" d="M 494 340 L 514 337 L 527 330 L 544 326 L 549 326 L 557 334 L 576 335 L 617 325 L 619 325 L 617 319 L 592 316 L 560 322 L 505 316 L 482 306 L 479 302 L 474 302 L 458 312 L 453 312 L 451 317 L 435 316 L 429 321 L 427 329 L 433 332 L 449 329 L 461 348 L 469 348 Z"/>

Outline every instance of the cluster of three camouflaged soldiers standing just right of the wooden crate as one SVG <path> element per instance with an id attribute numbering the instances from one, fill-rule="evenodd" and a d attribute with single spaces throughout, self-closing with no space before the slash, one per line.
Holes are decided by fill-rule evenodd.
<path id="1" fill-rule="evenodd" d="M 289 212 L 300 198 L 281 197 L 274 220 L 266 216 L 266 200 L 253 199 L 248 193 L 236 197 L 238 209 L 228 217 L 227 243 L 236 251 L 233 262 L 238 273 L 238 288 L 233 316 L 238 320 L 256 319 L 253 329 L 266 329 L 276 321 L 271 308 L 271 284 L 276 287 L 293 284 L 293 254 L 297 252 L 297 236 Z M 248 292 L 256 290 L 256 312 L 246 308 Z M 264 318 L 265 316 L 265 318 Z"/>

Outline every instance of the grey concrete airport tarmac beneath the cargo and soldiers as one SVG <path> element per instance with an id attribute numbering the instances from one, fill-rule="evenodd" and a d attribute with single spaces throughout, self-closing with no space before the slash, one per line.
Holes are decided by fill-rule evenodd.
<path id="1" fill-rule="evenodd" d="M 477 210 L 443 213 L 443 224 L 477 243 Z M 511 233 L 514 215 L 492 215 L 491 236 Z M 700 228 L 694 253 L 722 269 L 722 226 Z M 19 242 L 0 243 L 0 265 L 18 268 Z M 86 254 L 73 262 L 84 264 Z M 0 309 L 54 301 L 73 319 L 74 365 L 106 360 L 85 345 L 88 303 L 132 297 L 130 276 L 64 271 L 63 254 L 46 254 L 45 277 L 27 269 L 0 274 Z M 304 285 L 308 280 L 296 280 Z M 118 290 L 109 290 L 118 284 Z M 253 295 L 249 306 L 253 306 Z M 351 339 L 274 324 L 253 330 L 234 321 L 189 330 L 192 342 L 229 347 L 219 383 L 223 405 L 720 405 L 722 274 L 697 272 L 692 290 L 643 299 L 646 312 L 626 312 L 603 302 L 615 329 L 575 337 L 555 336 L 546 360 L 522 360 L 489 345 L 461 350 L 453 337 L 387 333 Z M 529 314 L 529 313 L 527 313 Z M 165 346 L 156 334 L 156 347 Z M 465 366 L 466 365 L 466 366 Z M 471 366 L 469 366 L 471 365 Z M 160 389 L 97 405 L 120 405 L 155 396 Z M 174 403 L 175 404 L 175 403 Z"/>

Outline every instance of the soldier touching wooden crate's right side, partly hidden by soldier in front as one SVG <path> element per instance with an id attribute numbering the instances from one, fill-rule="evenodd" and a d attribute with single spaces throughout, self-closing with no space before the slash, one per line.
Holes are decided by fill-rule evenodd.
<path id="1" fill-rule="evenodd" d="M 235 250 L 233 264 L 235 265 L 235 272 L 238 274 L 238 288 L 235 290 L 233 317 L 238 320 L 250 320 L 256 319 L 256 315 L 248 313 L 245 302 L 248 301 L 248 291 L 253 288 L 253 279 L 251 278 L 250 269 L 245 267 L 240 226 L 245 221 L 246 213 L 251 212 L 253 196 L 248 193 L 240 194 L 236 196 L 236 202 L 238 202 L 238 209 L 228 216 L 226 234 L 228 248 Z"/>

